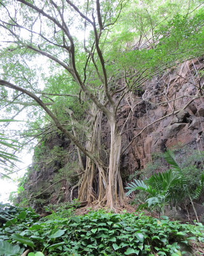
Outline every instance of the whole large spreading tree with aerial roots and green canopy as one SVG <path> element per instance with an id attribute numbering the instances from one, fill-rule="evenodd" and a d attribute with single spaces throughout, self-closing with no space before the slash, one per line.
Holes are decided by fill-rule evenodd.
<path id="1" fill-rule="evenodd" d="M 78 184 L 80 200 L 112 209 L 122 204 L 122 131 L 117 125 L 120 102 L 128 92 L 138 90 L 150 76 L 171 67 L 176 60 L 199 56 L 203 45 L 200 8 L 196 9 L 193 4 L 184 8 L 185 15 L 180 15 L 173 12 L 171 6 L 166 18 L 164 4 L 165 10 L 152 17 L 146 8 L 148 1 L 144 1 L 147 10 L 145 15 L 140 15 L 138 28 L 127 30 L 127 20 L 134 24 L 134 11 L 140 11 L 137 1 L 3 0 L 0 3 L 1 35 L 5 38 L 1 48 L 3 93 L 8 95 L 11 91 L 5 88 L 11 88 L 15 90 L 13 99 L 18 99 L 19 106 L 41 106 L 55 127 L 75 143 L 84 172 Z M 194 9 L 198 12 L 193 18 Z M 186 28 L 185 22 L 189 22 L 190 28 Z M 83 42 L 78 36 L 82 32 Z M 51 90 L 54 83 L 63 84 L 57 88 L 58 92 L 50 92 L 50 86 L 43 92 L 39 90 L 38 83 L 43 77 L 36 79 L 40 70 L 34 70 L 31 61 L 40 61 L 41 56 L 50 60 L 48 65 L 54 73 L 49 80 Z M 68 106 L 61 104 L 62 111 L 55 108 L 55 102 L 60 101 L 57 97 L 69 97 L 66 98 Z M 75 109 L 70 107 L 73 98 L 88 109 L 89 118 L 83 125 L 75 119 Z M 28 104 L 29 99 L 34 101 Z M 69 124 L 64 124 L 63 113 L 69 115 Z M 110 127 L 108 161 L 101 152 L 103 116 Z M 82 126 L 85 127 L 85 144 L 79 140 Z M 82 154 L 87 157 L 86 166 L 82 164 Z"/>

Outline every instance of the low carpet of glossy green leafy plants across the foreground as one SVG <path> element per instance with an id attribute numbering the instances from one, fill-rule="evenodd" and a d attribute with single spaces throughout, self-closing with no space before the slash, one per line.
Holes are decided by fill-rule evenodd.
<path id="1" fill-rule="evenodd" d="M 203 255 L 204 226 L 139 214 L 92 211 L 39 218 L 31 209 L 0 205 L 0 255 Z M 70 213 L 70 212 L 69 212 Z"/>

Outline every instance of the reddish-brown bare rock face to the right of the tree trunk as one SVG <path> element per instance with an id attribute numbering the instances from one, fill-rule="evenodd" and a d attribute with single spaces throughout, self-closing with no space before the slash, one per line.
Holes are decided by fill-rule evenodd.
<path id="1" fill-rule="evenodd" d="M 120 124 L 130 116 L 124 148 L 136 138 L 124 152 L 123 169 L 134 172 L 144 168 L 152 153 L 164 152 L 178 144 L 204 150 L 204 99 L 194 99 L 198 87 L 204 83 L 204 77 L 198 75 L 203 67 L 203 58 L 186 61 L 145 84 L 142 99 L 131 93 L 132 100 L 128 97 L 124 100 L 124 106 L 120 107 Z"/>

